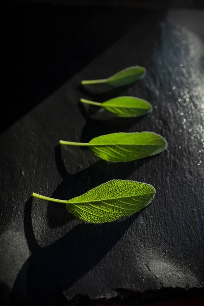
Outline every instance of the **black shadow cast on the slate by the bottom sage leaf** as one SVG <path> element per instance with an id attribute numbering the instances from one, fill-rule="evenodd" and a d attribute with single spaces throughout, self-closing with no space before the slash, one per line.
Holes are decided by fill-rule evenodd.
<path id="1" fill-rule="evenodd" d="M 24 231 L 27 239 L 31 239 L 28 241 L 29 247 L 34 250 L 37 241 L 33 240 L 35 236 L 31 228 L 31 205 L 32 202 L 27 202 L 29 208 L 25 209 Z M 92 269 L 123 236 L 138 215 L 139 213 L 120 222 L 98 225 L 83 223 L 72 228 L 56 242 L 46 247 L 38 247 L 16 278 L 10 304 L 16 304 L 17 291 L 21 286 L 24 287 L 26 282 L 26 304 L 56 305 L 59 290 L 68 289 Z M 107 233 L 114 235 L 108 237 Z"/>

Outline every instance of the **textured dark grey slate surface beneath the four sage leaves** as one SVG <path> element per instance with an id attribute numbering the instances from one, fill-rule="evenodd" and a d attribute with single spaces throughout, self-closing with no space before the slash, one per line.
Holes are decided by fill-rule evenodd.
<path id="1" fill-rule="evenodd" d="M 115 288 L 203 286 L 203 20 L 195 11 L 143 13 L 129 33 L 2 133 L 0 277 L 11 304 L 56 305 L 59 291 L 96 298 L 114 296 Z M 97 97 L 79 86 L 135 64 L 147 75 L 128 88 Z M 149 100 L 154 112 L 100 120 L 79 105 L 82 96 L 119 94 Z M 108 164 L 88 150 L 58 145 L 145 130 L 163 135 L 168 150 Z M 102 225 L 30 197 L 34 191 L 69 199 L 111 179 L 152 184 L 156 197 L 140 213 Z"/>

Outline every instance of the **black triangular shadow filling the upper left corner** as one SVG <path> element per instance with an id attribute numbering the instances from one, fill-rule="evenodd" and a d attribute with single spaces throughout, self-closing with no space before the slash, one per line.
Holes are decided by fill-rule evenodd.
<path id="1" fill-rule="evenodd" d="M 12 3 L 6 14 L 7 71 L 12 82 L 0 132 L 103 53 L 146 11 Z"/>

